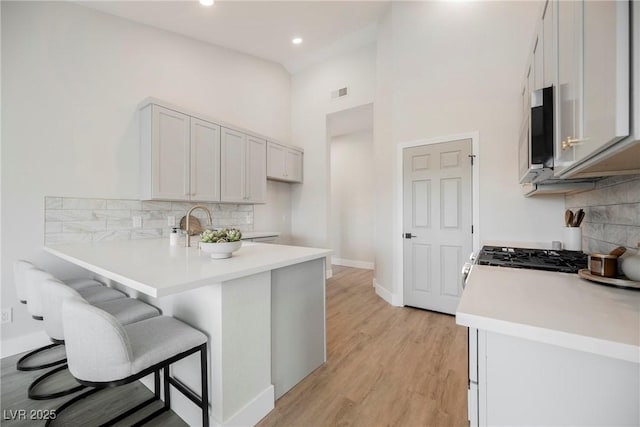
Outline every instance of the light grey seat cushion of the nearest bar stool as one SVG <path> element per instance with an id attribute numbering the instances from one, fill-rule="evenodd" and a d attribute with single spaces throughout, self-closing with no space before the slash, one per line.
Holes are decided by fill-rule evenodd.
<path id="1" fill-rule="evenodd" d="M 180 320 L 159 316 L 124 327 L 133 360 L 130 375 L 207 342 L 207 336 Z"/>

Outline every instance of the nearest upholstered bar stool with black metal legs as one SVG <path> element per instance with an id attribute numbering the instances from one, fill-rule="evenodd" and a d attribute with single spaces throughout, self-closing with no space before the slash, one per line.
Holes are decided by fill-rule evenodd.
<path id="1" fill-rule="evenodd" d="M 69 370 L 76 380 L 95 389 L 75 396 L 56 410 L 56 419 L 78 401 L 107 387 L 129 384 L 149 374 L 155 376 L 155 396 L 104 421 L 112 425 L 159 399 L 159 373 L 163 371 L 164 406 L 136 425 L 144 424 L 171 408 L 173 385 L 202 409 L 202 424 L 209 425 L 207 337 L 172 317 L 158 316 L 122 325 L 114 316 L 78 298 L 63 303 L 62 320 Z M 169 368 L 191 354 L 200 353 L 201 395 L 170 377 Z M 52 420 L 47 421 L 50 425 Z"/>

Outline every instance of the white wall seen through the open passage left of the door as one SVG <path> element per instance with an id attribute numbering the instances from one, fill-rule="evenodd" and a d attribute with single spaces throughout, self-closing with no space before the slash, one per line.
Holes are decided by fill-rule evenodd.
<path id="1" fill-rule="evenodd" d="M 330 229 L 333 258 L 373 264 L 373 130 L 331 138 Z"/>

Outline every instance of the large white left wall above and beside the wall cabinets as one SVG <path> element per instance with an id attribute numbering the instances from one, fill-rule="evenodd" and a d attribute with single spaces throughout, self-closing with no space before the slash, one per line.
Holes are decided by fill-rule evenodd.
<path id="1" fill-rule="evenodd" d="M 71 274 L 41 251 L 44 196 L 139 197 L 140 101 L 155 96 L 289 142 L 290 76 L 278 64 L 72 3 L 1 7 L 2 307 L 15 314 L 2 325 L 4 342 L 40 327 L 16 301 L 14 260 Z"/>

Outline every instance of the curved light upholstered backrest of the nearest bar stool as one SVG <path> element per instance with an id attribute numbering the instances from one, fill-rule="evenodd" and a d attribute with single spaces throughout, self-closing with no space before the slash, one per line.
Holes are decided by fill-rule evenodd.
<path id="1" fill-rule="evenodd" d="M 67 362 L 74 377 L 105 382 L 131 375 L 131 344 L 115 317 L 73 297 L 62 304 L 62 324 Z"/>

